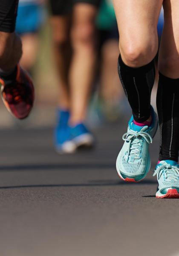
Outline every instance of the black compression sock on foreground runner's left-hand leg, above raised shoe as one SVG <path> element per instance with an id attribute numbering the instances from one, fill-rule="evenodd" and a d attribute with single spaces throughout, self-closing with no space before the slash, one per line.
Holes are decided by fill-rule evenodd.
<path id="1" fill-rule="evenodd" d="M 150 117 L 150 97 L 155 81 L 155 64 L 133 68 L 118 58 L 118 74 L 136 122 L 144 122 Z"/>

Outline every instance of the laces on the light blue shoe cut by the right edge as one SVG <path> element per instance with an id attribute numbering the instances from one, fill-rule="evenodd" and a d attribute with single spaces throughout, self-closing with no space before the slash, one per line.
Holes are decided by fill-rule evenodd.
<path id="1" fill-rule="evenodd" d="M 179 181 L 179 165 L 172 166 L 168 163 L 162 164 L 155 170 L 153 176 L 156 176 L 157 174 L 159 174 L 159 178 L 163 174 L 164 180 L 166 181 Z"/>

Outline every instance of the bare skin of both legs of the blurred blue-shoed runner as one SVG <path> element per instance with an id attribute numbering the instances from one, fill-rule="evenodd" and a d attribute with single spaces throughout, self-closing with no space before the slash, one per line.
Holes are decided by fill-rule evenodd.
<path id="1" fill-rule="evenodd" d="M 71 125 L 83 122 L 86 116 L 95 73 L 96 14 L 97 9 L 94 6 L 86 3 L 76 4 L 70 33 L 69 16 L 52 17 L 55 58 L 61 80 L 60 108 L 71 110 Z M 56 34 L 57 30 L 61 31 L 61 35 L 59 32 Z M 72 46 L 70 64 L 65 55 L 65 52 L 70 52 L 69 39 Z"/>

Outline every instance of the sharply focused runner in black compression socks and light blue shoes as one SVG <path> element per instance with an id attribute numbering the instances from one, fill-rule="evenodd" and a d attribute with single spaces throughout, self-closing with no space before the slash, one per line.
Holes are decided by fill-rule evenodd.
<path id="1" fill-rule="evenodd" d="M 156 98 L 161 137 L 154 176 L 159 183 L 157 198 L 179 198 L 179 1 L 114 0 L 114 4 L 120 33 L 118 73 L 133 111 L 116 161 L 118 175 L 138 182 L 150 170 L 149 145 L 158 128 L 150 96 L 158 51 L 157 23 L 163 4 Z"/>

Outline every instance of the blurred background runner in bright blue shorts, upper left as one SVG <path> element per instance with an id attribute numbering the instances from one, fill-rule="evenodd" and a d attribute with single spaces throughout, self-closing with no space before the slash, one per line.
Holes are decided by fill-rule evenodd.
<path id="1" fill-rule="evenodd" d="M 31 73 L 35 64 L 39 37 L 38 32 L 45 20 L 43 0 L 20 0 L 16 22 L 16 32 L 23 44 L 23 55 L 20 64 Z"/>

